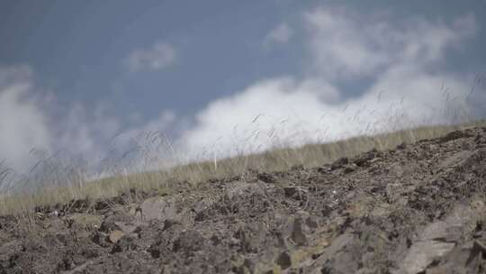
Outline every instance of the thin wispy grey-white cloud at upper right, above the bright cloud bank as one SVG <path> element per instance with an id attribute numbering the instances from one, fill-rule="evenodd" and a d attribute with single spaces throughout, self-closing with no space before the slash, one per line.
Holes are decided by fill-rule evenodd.
<path id="1" fill-rule="evenodd" d="M 446 47 L 474 30 L 472 15 L 452 26 L 424 19 L 393 25 L 391 17 L 336 8 L 306 13 L 313 68 L 326 78 L 356 78 L 382 73 L 399 62 L 424 66 L 440 60 Z"/>

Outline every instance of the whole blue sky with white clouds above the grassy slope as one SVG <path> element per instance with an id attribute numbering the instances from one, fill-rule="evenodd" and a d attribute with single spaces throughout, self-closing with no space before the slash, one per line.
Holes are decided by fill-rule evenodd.
<path id="1" fill-rule="evenodd" d="M 157 168 L 483 118 L 485 10 L 446 0 L 3 0 L 0 170 L 58 158 Z"/>

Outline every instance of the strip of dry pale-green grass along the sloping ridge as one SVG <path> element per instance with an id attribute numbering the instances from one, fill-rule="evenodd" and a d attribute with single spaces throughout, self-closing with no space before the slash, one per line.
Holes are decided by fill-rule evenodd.
<path id="1" fill-rule="evenodd" d="M 341 157 L 353 157 L 372 149 L 393 149 L 402 142 L 437 138 L 471 126 L 486 126 L 486 121 L 459 125 L 422 126 L 397 132 L 357 136 L 328 143 L 311 143 L 298 148 L 274 148 L 261 153 L 238 155 L 222 160 L 192 162 L 172 169 L 139 173 L 122 173 L 110 178 L 86 181 L 75 177 L 62 187 L 58 184 L 43 187 L 33 193 L 0 196 L 0 215 L 29 215 L 38 205 L 67 204 L 76 199 L 98 199 L 128 193 L 130 189 L 156 190 L 160 194 L 177 191 L 185 182 L 197 186 L 209 179 L 231 178 L 243 175 L 248 169 L 282 171 L 294 166 L 318 167 Z"/>

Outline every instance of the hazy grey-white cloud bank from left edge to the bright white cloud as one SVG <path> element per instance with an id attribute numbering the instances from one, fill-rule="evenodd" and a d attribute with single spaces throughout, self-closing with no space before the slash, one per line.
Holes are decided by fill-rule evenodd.
<path id="1" fill-rule="evenodd" d="M 165 132 L 176 128 L 175 119 L 174 112 L 163 110 L 148 123 L 123 127 L 106 104 L 89 110 L 76 102 L 58 104 L 56 96 L 36 87 L 29 66 L 0 68 L 0 172 L 29 174 L 23 183 L 40 184 L 65 180 L 72 169 L 93 176 L 129 166 L 160 167 L 174 157 L 166 153 Z"/>

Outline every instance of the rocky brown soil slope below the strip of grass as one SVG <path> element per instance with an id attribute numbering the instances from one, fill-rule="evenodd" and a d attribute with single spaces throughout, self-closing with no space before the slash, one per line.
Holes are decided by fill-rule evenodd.
<path id="1" fill-rule="evenodd" d="M 174 187 L 1 216 L 0 273 L 486 273 L 486 128 Z"/>

